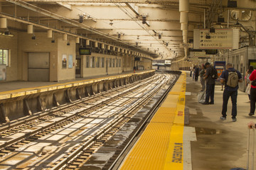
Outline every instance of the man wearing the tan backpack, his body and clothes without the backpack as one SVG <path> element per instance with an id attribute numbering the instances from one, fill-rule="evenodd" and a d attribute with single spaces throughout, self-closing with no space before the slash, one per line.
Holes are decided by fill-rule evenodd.
<path id="1" fill-rule="evenodd" d="M 238 86 L 231 87 L 227 85 L 228 82 L 228 74 L 229 72 L 237 72 L 238 74 L 238 82 L 242 82 L 242 75 L 238 70 L 233 68 L 233 65 L 228 63 L 226 66 L 226 70 L 222 72 L 220 75 L 220 83 L 225 83 L 225 89 L 223 91 L 223 109 L 222 109 L 222 116 L 220 117 L 221 120 L 225 120 L 227 117 L 227 106 L 228 106 L 228 99 L 231 97 L 232 101 L 232 121 L 235 122 L 236 115 L 237 115 L 237 99 L 238 99 Z"/>

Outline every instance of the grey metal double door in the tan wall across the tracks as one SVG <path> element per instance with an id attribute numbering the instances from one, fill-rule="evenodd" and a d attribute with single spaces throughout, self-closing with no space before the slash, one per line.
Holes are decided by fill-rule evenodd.
<path id="1" fill-rule="evenodd" d="M 28 52 L 28 81 L 50 81 L 49 52 Z"/>

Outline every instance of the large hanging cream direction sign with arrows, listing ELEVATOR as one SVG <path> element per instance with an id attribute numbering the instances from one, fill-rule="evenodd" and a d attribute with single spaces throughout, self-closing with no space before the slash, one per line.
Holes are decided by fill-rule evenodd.
<path id="1" fill-rule="evenodd" d="M 238 49 L 239 30 L 238 29 L 215 29 L 215 33 L 210 33 L 210 29 L 195 29 L 194 49 Z"/>

